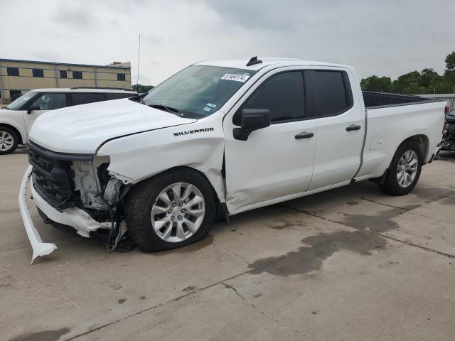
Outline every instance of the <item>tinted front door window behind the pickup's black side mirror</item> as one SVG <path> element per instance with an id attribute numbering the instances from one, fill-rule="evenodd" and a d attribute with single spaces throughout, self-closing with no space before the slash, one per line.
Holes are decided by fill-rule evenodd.
<path id="1" fill-rule="evenodd" d="M 302 72 L 279 73 L 265 80 L 241 109 L 269 109 L 272 122 L 305 117 Z M 235 115 L 233 123 L 240 125 L 239 114 Z"/>

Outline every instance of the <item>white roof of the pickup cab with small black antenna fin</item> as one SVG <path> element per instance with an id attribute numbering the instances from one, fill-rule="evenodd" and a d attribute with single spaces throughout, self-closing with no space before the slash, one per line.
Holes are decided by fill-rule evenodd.
<path id="1" fill-rule="evenodd" d="M 203 62 L 196 63 L 197 65 L 211 65 L 211 66 L 220 66 L 220 67 L 234 67 L 237 69 L 250 69 L 250 70 L 259 70 L 262 67 L 269 65 L 279 65 L 279 66 L 334 66 L 334 67 L 348 67 L 347 65 L 335 64 L 335 63 L 325 63 L 317 62 L 314 60 L 303 60 L 297 58 L 262 58 L 258 57 L 258 60 L 261 60 L 262 63 L 257 63 L 255 65 L 247 66 L 247 63 L 251 58 L 242 58 L 242 59 L 230 59 L 230 60 L 204 60 Z"/>

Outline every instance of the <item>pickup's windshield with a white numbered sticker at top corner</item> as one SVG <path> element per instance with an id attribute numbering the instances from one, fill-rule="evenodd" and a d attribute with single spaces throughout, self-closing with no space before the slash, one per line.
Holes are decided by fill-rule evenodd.
<path id="1" fill-rule="evenodd" d="M 205 117 L 216 112 L 256 71 L 192 65 L 144 97 L 144 104 L 181 116 Z"/>

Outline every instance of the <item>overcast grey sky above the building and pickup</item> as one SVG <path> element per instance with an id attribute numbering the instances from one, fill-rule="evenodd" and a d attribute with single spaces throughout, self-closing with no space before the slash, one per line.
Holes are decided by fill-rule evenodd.
<path id="1" fill-rule="evenodd" d="M 455 50 L 455 0 L 0 0 L 0 58 L 131 61 L 156 85 L 200 60 L 291 57 L 392 78 Z"/>

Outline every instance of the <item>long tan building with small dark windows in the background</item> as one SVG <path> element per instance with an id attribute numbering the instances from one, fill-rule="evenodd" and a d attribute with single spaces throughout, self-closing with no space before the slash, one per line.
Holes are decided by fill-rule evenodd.
<path id="1" fill-rule="evenodd" d="M 110 87 L 131 90 L 131 65 L 38 62 L 0 58 L 0 104 L 28 90 L 47 87 Z"/>

